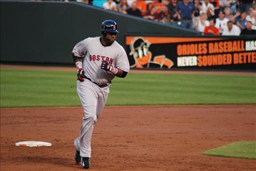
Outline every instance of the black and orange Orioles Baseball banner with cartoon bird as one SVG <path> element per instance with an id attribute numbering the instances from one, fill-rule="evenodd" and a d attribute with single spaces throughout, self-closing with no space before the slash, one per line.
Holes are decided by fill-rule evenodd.
<path id="1" fill-rule="evenodd" d="M 126 36 L 131 68 L 255 70 L 256 37 Z"/>

